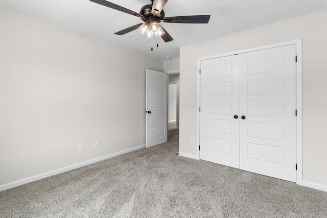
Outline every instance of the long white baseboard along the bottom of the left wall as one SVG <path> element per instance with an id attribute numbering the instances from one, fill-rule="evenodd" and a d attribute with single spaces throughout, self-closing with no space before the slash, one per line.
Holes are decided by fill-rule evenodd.
<path id="1" fill-rule="evenodd" d="M 13 188 L 13 187 L 17 187 L 19 185 L 25 185 L 27 183 L 34 182 L 36 180 L 40 180 L 40 179 L 44 179 L 46 177 L 61 174 L 61 173 L 67 172 L 67 171 L 71 171 L 72 169 L 76 169 L 76 168 L 79 168 L 79 167 L 82 167 L 82 166 L 86 166 L 88 164 L 103 161 L 103 160 L 106 160 L 106 159 L 109 159 L 109 158 L 112 158 L 112 157 L 116 157 L 116 156 L 126 154 L 126 153 L 129 153 L 129 152 L 132 152 L 132 151 L 143 149 L 143 148 L 145 148 L 145 144 L 143 144 L 142 146 L 137 146 L 137 147 L 134 147 L 134 148 L 131 148 L 131 149 L 116 152 L 116 153 L 109 154 L 109 155 L 106 155 L 106 156 L 98 157 L 98 158 L 95 158 L 95 159 L 92 159 L 92 160 L 87 160 L 87 161 L 84 161 L 84 162 L 81 162 L 81 163 L 66 166 L 66 167 L 56 169 L 54 171 L 50 171 L 50 172 L 47 172 L 47 173 L 39 174 L 39 175 L 32 176 L 32 177 L 29 177 L 29 178 L 25 178 L 25 179 L 10 182 L 10 183 L 4 184 L 4 185 L 0 185 L 0 191 L 6 190 L 6 189 L 9 189 L 9 188 Z"/>

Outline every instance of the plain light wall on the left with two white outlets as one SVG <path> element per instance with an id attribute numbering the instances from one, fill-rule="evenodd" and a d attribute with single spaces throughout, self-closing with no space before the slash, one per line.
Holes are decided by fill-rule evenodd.
<path id="1" fill-rule="evenodd" d="M 144 146 L 145 71 L 162 61 L 3 7 L 0 28 L 0 190 Z"/>

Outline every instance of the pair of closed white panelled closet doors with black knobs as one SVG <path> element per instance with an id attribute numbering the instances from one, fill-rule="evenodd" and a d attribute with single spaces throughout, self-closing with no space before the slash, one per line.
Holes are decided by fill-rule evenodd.
<path id="1" fill-rule="evenodd" d="M 296 45 L 200 62 L 200 159 L 296 182 Z"/>

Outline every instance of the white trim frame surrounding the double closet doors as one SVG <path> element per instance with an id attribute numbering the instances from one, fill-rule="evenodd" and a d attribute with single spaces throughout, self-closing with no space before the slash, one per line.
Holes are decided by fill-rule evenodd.
<path id="1" fill-rule="evenodd" d="M 231 56 L 241 53 L 254 52 L 264 49 L 272 49 L 273 47 L 281 47 L 286 45 L 296 45 L 296 184 L 302 185 L 302 39 L 295 39 L 286 42 L 280 42 L 270 45 L 264 45 L 260 47 L 254 47 L 251 49 L 240 50 L 235 52 L 228 52 L 224 54 L 218 54 L 213 56 L 207 56 L 203 58 L 198 58 L 197 72 L 200 72 L 200 63 L 203 60 L 221 58 L 225 56 Z M 200 108 L 200 73 L 197 76 L 197 108 Z M 200 111 L 197 110 L 197 148 L 200 146 Z M 197 159 L 200 159 L 200 151 L 197 149 L 196 154 Z"/>

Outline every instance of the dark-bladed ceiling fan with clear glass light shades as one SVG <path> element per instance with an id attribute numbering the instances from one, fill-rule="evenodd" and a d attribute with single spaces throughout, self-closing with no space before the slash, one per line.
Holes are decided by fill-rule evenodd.
<path id="1" fill-rule="evenodd" d="M 138 23 L 132 27 L 129 27 L 125 30 L 116 32 L 116 35 L 124 35 L 133 30 L 138 29 L 138 31 L 147 36 L 148 38 L 161 37 L 165 42 L 172 41 L 173 38 L 169 33 L 158 25 L 159 22 L 167 23 L 208 23 L 210 15 L 193 15 L 193 16 L 175 16 L 175 17 L 165 17 L 164 6 L 168 0 L 150 0 L 151 5 L 145 5 L 141 8 L 140 12 L 134 12 L 127 8 L 124 8 L 119 5 L 107 2 L 105 0 L 90 0 L 91 2 L 98 3 L 100 5 L 112 8 L 127 14 L 141 18 L 144 23 Z"/>

